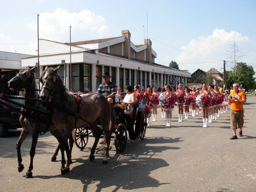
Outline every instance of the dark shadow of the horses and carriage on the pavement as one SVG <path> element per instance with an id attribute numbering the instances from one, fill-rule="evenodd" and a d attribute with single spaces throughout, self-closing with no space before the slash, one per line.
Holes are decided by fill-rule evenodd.
<path id="1" fill-rule="evenodd" d="M 94 161 L 88 159 L 88 152 L 91 150 L 91 147 L 88 147 L 84 150 L 85 156 L 73 159 L 74 164 L 72 165 L 74 167 L 68 174 L 37 175 L 34 178 L 65 177 L 80 180 L 83 184 L 83 191 L 89 190 L 88 185 L 94 184 L 97 187 L 97 192 L 106 188 L 111 189 L 111 191 L 118 191 L 120 189 L 132 190 L 169 184 L 161 183 L 150 175 L 156 169 L 165 169 L 169 166 L 159 155 L 162 151 L 180 149 L 180 147 L 161 146 L 161 144 L 182 142 L 181 138 L 149 137 L 138 141 L 128 142 L 128 146 L 122 153 L 111 153 L 110 161 L 106 165 L 101 164 L 102 156 L 105 155 L 104 147 L 97 148 Z M 156 146 L 156 144 L 159 145 Z"/>

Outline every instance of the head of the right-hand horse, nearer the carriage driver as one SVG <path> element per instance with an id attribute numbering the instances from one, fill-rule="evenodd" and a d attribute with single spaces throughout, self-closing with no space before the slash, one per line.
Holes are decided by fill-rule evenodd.
<path id="1" fill-rule="evenodd" d="M 48 100 L 51 100 L 54 96 L 54 93 L 56 91 L 60 91 L 60 84 L 62 83 L 62 81 L 57 73 L 59 68 L 60 66 L 55 69 L 47 68 L 40 76 L 40 82 L 43 84 L 40 93 L 40 99 L 42 102 L 47 102 Z"/>

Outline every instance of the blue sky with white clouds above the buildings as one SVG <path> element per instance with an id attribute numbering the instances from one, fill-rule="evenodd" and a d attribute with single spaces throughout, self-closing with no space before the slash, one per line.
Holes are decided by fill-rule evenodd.
<path id="1" fill-rule="evenodd" d="M 36 54 L 39 38 L 69 42 L 119 37 L 135 45 L 150 39 L 155 62 L 223 72 L 233 67 L 234 43 L 256 71 L 256 0 L 1 0 L 0 51 Z"/>

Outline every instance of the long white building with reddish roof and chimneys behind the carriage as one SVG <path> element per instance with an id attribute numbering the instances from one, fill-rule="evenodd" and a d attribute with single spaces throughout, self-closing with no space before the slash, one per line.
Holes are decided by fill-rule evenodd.
<path id="1" fill-rule="evenodd" d="M 151 45 L 149 39 L 145 39 L 143 45 L 134 45 L 128 30 L 123 30 L 120 37 L 71 42 L 71 45 L 40 39 L 40 73 L 46 66 L 61 65 L 59 74 L 67 88 L 81 93 L 95 91 L 103 82 L 101 75 L 105 71 L 109 71 L 111 81 L 122 90 L 125 85 L 137 84 L 142 89 L 148 85 L 162 88 L 164 84 L 178 82 L 186 86 L 191 73 L 155 63 L 156 52 Z M 37 56 L 31 56 L 23 58 L 21 64 L 27 67 L 37 62 Z"/>

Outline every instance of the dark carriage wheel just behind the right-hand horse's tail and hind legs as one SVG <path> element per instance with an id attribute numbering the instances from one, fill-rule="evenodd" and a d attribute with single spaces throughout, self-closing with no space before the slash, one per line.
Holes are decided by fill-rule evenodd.
<path id="1" fill-rule="evenodd" d="M 122 152 L 125 150 L 127 142 L 127 130 L 124 124 L 119 124 L 116 131 L 117 133 L 114 136 L 115 147 L 118 152 Z"/>

